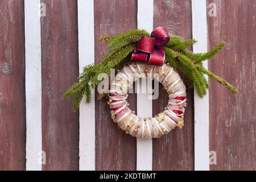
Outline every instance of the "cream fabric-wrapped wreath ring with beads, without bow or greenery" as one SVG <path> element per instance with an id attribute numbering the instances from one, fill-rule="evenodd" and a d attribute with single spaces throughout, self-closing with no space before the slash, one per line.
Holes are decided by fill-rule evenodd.
<path id="1" fill-rule="evenodd" d="M 168 92 L 168 105 L 163 113 L 154 118 L 141 118 L 135 111 L 129 109 L 126 99 L 127 90 L 139 78 L 158 79 Z M 131 63 L 125 65 L 115 76 L 109 96 L 110 113 L 118 126 L 133 137 L 159 138 L 168 134 L 176 126 L 184 126 L 184 111 L 187 106 L 186 92 L 183 80 L 170 65 L 162 67 L 146 63 Z"/>

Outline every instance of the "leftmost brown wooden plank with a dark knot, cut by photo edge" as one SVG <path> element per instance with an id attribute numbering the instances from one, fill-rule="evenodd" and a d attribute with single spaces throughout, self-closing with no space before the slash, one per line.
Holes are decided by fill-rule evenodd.
<path id="1" fill-rule="evenodd" d="M 26 169 L 24 2 L 0 3 L 0 170 Z"/>

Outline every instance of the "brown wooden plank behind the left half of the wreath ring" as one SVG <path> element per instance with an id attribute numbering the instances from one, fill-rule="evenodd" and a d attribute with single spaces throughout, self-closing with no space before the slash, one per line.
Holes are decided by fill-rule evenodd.
<path id="1" fill-rule="evenodd" d="M 137 28 L 137 1 L 94 1 L 95 56 L 98 63 L 106 45 L 98 38 Z M 96 92 L 97 95 L 97 92 Z M 136 95 L 129 94 L 130 108 L 136 110 Z M 106 100 L 96 100 L 96 170 L 135 170 L 136 138 L 118 129 L 110 118 Z"/>

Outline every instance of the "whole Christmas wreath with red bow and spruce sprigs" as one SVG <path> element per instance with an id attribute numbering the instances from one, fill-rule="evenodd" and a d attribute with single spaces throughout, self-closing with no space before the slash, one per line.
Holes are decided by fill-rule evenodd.
<path id="1" fill-rule="evenodd" d="M 214 75 L 203 67 L 203 61 L 208 60 L 224 46 L 221 42 L 207 53 L 193 53 L 188 47 L 196 40 L 184 40 L 180 36 L 168 35 L 166 28 L 158 27 L 151 35 L 145 30 L 130 30 L 120 35 L 105 35 L 100 38 L 101 43 L 108 43 L 106 53 L 99 64 L 84 67 L 78 82 L 65 92 L 64 97 L 75 96 L 73 110 L 79 107 L 82 98 L 87 103 L 91 100 L 91 89 L 100 84 L 111 69 L 118 71 L 114 81 L 110 84 L 109 93 L 101 93 L 108 97 L 110 113 L 114 122 L 134 137 L 158 138 L 170 132 L 174 127 L 184 126 L 184 110 L 186 107 L 185 85 L 176 69 L 185 76 L 189 85 L 195 88 L 199 97 L 204 97 L 209 89 L 209 83 L 204 75 L 212 77 L 221 85 L 237 94 L 237 89 L 223 78 Z M 130 64 L 121 67 L 126 57 L 131 55 Z M 168 93 L 168 105 L 164 111 L 154 118 L 140 118 L 127 104 L 129 86 L 138 78 L 157 79 Z"/>

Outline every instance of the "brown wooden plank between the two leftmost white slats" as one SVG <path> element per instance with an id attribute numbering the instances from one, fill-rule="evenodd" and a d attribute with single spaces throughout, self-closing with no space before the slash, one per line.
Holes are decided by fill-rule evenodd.
<path id="1" fill-rule="evenodd" d="M 42 0 L 42 136 L 44 170 L 79 169 L 79 113 L 63 93 L 79 75 L 77 1 Z"/>

